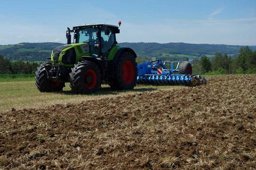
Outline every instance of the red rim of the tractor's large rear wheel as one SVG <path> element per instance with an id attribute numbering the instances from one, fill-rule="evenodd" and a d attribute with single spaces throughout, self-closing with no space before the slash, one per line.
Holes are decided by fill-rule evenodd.
<path id="1" fill-rule="evenodd" d="M 130 61 L 126 61 L 123 65 L 123 79 L 126 84 L 132 83 L 134 78 L 134 68 Z"/>

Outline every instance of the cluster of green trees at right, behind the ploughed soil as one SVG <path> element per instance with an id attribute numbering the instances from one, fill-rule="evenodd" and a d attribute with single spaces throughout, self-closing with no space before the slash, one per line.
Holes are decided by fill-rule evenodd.
<path id="1" fill-rule="evenodd" d="M 203 56 L 199 63 L 194 63 L 194 68 L 200 74 L 256 74 L 256 50 L 253 51 L 248 46 L 242 47 L 233 58 L 216 53 L 212 61 Z"/>

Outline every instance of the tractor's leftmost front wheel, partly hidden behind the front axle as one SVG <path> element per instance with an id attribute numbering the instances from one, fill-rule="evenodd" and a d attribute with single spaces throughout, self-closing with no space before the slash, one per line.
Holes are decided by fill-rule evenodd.
<path id="1" fill-rule="evenodd" d="M 60 92 L 62 91 L 63 87 L 65 87 L 64 82 L 53 82 L 47 79 L 46 68 L 51 68 L 51 66 L 51 62 L 45 62 L 37 67 L 35 84 L 40 92 Z"/>

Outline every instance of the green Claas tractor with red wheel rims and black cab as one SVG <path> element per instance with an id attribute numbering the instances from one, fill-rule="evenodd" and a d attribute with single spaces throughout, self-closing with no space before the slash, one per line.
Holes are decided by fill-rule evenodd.
<path id="1" fill-rule="evenodd" d="M 119 21 L 119 27 L 121 22 Z M 74 26 L 66 32 L 67 45 L 52 50 L 51 61 L 36 71 L 40 92 L 62 91 L 70 82 L 73 93 L 94 93 L 102 83 L 112 89 L 133 89 L 137 79 L 137 55 L 117 45 L 118 26 L 92 24 Z M 71 33 L 74 33 L 71 44 Z"/>

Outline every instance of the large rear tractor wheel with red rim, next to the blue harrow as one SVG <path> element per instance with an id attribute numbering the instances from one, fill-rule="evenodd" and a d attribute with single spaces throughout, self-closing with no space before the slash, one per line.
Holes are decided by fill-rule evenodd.
<path id="1" fill-rule="evenodd" d="M 109 83 L 112 89 L 128 90 L 136 86 L 138 70 L 134 56 L 130 52 L 119 55 L 113 82 Z"/>

